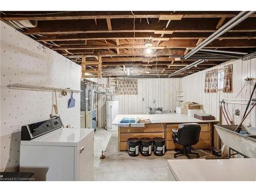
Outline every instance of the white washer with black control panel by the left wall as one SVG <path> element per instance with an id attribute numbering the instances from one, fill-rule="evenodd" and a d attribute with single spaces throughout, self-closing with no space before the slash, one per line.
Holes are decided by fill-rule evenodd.
<path id="1" fill-rule="evenodd" d="M 30 138 L 24 137 L 26 129 Z M 93 129 L 62 128 L 59 117 L 22 127 L 20 172 L 34 173 L 35 180 L 93 180 L 93 153 Z"/>

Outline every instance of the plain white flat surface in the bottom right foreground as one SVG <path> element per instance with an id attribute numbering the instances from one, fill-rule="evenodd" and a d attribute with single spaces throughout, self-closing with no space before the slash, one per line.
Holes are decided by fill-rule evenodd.
<path id="1" fill-rule="evenodd" d="M 170 181 L 256 181 L 256 158 L 168 160 Z"/>

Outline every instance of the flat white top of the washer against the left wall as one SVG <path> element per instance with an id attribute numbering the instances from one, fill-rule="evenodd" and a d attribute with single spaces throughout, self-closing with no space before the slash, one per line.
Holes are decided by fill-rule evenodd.
<path id="1" fill-rule="evenodd" d="M 61 128 L 30 141 L 21 141 L 21 145 L 78 146 L 94 129 Z"/>

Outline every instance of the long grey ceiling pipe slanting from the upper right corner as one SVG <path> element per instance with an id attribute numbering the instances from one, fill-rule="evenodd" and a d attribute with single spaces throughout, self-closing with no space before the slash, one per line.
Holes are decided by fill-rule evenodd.
<path id="1" fill-rule="evenodd" d="M 230 19 L 225 25 L 223 25 L 216 32 L 212 33 L 208 38 L 206 38 L 203 42 L 201 42 L 201 44 L 199 44 L 197 47 L 195 47 L 194 49 L 189 51 L 184 56 L 184 59 L 187 59 L 191 55 L 195 54 L 200 49 L 202 49 L 203 47 L 205 47 L 208 44 L 210 44 L 210 42 L 214 41 L 216 38 L 221 36 L 223 33 L 227 32 L 228 30 L 230 30 L 234 26 L 236 26 L 239 23 L 241 23 L 244 19 L 246 19 L 247 17 L 249 17 L 253 13 L 254 13 L 254 11 L 242 11 L 242 12 L 240 12 L 236 17 L 233 17 L 232 19 Z"/>

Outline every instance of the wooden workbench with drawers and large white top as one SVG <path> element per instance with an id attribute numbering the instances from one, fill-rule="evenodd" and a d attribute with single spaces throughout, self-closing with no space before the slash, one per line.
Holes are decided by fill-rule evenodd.
<path id="1" fill-rule="evenodd" d="M 180 148 L 181 145 L 173 142 L 172 129 L 178 129 L 182 123 L 199 123 L 201 132 L 199 142 L 194 145 L 194 148 L 210 148 L 213 141 L 213 127 L 217 120 L 203 121 L 183 114 L 154 114 L 154 115 L 117 115 L 112 124 L 119 124 L 122 118 L 146 118 L 151 121 L 159 121 L 159 123 L 148 123 L 144 127 L 118 126 L 118 150 L 127 150 L 127 139 L 136 137 L 162 137 L 166 140 L 166 149 L 173 150 L 175 147 Z"/>

